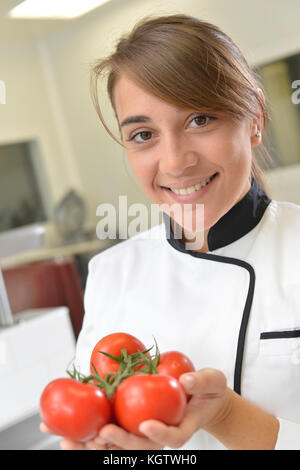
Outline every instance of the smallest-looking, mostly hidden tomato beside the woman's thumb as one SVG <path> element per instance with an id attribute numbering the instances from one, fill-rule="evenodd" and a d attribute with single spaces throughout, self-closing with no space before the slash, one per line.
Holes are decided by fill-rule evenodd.
<path id="1" fill-rule="evenodd" d="M 181 374 L 194 372 L 195 367 L 185 354 L 179 351 L 168 351 L 160 355 L 157 370 L 159 374 L 171 375 L 179 379 Z"/>

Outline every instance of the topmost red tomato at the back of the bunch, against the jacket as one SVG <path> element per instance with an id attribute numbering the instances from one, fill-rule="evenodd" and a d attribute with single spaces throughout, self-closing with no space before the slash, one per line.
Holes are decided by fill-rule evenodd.
<path id="1" fill-rule="evenodd" d="M 145 351 L 146 347 L 137 338 L 127 333 L 112 333 L 104 336 L 104 338 L 98 341 L 92 351 L 90 361 L 91 374 L 95 373 L 93 365 L 103 379 L 105 379 L 109 372 L 118 372 L 120 364 L 104 354 L 101 354 L 99 351 L 104 351 L 112 356 L 121 357 L 122 349 L 126 349 L 129 355 L 138 351 Z"/>

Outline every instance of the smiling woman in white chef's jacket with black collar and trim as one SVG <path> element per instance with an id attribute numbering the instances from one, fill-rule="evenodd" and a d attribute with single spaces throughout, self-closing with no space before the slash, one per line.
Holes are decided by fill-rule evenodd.
<path id="1" fill-rule="evenodd" d="M 142 438 L 110 424 L 62 448 L 300 449 L 300 208 L 265 192 L 253 149 L 268 113 L 253 72 L 216 26 L 145 20 L 93 69 L 105 127 L 105 70 L 129 163 L 165 214 L 90 262 L 77 363 L 88 372 L 99 338 L 125 331 L 184 352 L 197 372 L 180 378 L 192 399 L 178 428 L 147 421 Z"/>

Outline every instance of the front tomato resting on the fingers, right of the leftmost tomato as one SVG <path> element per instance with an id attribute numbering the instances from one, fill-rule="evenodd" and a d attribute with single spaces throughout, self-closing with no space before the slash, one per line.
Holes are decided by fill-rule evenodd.
<path id="1" fill-rule="evenodd" d="M 180 424 L 187 399 L 174 377 L 138 374 L 123 380 L 114 395 L 114 414 L 125 430 L 143 436 L 139 425 L 157 419 L 169 426 Z"/>

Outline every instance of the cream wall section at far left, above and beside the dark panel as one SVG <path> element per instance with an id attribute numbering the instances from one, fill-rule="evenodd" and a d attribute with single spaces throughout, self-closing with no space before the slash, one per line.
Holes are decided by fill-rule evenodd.
<path id="1" fill-rule="evenodd" d="M 0 144 L 37 139 L 55 204 L 69 186 L 76 169 L 65 158 L 56 117 L 36 44 L 0 46 L 0 76 L 6 85 L 6 104 L 0 106 Z M 68 163 L 71 163 L 70 165 Z"/>

